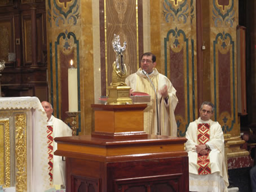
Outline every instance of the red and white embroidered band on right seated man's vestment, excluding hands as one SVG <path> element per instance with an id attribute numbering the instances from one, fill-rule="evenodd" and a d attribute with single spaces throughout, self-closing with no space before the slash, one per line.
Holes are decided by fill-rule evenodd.
<path id="1" fill-rule="evenodd" d="M 205 144 L 210 139 L 210 125 L 202 123 L 197 125 L 198 144 Z M 197 155 L 198 175 L 208 175 L 211 173 L 209 153 L 206 155 Z"/>

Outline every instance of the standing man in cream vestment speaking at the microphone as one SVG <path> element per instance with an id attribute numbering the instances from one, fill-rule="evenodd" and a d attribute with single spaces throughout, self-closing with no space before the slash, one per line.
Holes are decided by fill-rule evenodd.
<path id="1" fill-rule="evenodd" d="M 144 131 L 148 134 L 156 135 L 157 133 L 157 113 L 156 113 L 156 94 L 151 81 L 157 91 L 158 113 L 160 122 L 160 135 L 175 136 L 177 135 L 177 124 L 175 120 L 174 110 L 178 103 L 176 90 L 170 80 L 158 73 L 156 66 L 156 56 L 151 52 L 144 53 L 140 60 L 139 70 L 129 75 L 125 79 L 127 86 L 131 87 L 133 92 L 144 92 L 151 96 L 151 102 L 144 110 Z"/>

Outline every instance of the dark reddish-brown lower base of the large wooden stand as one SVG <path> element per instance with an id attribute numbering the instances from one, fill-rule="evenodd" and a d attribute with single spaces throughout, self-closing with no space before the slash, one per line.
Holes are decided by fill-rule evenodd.
<path id="1" fill-rule="evenodd" d="M 66 158 L 68 191 L 188 191 L 188 157 L 96 159 Z"/>

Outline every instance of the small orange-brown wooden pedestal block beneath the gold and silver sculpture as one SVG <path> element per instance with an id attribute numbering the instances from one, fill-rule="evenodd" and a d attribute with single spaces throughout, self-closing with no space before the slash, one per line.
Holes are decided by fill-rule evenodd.
<path id="1" fill-rule="evenodd" d="M 147 137 L 143 126 L 143 113 L 147 104 L 92 104 L 91 106 L 95 114 L 93 137 L 109 139 Z"/>

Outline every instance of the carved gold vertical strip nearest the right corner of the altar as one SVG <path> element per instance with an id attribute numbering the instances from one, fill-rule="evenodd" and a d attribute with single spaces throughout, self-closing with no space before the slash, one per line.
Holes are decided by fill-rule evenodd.
<path id="1" fill-rule="evenodd" d="M 27 191 L 27 116 L 15 115 L 16 191 Z"/>

